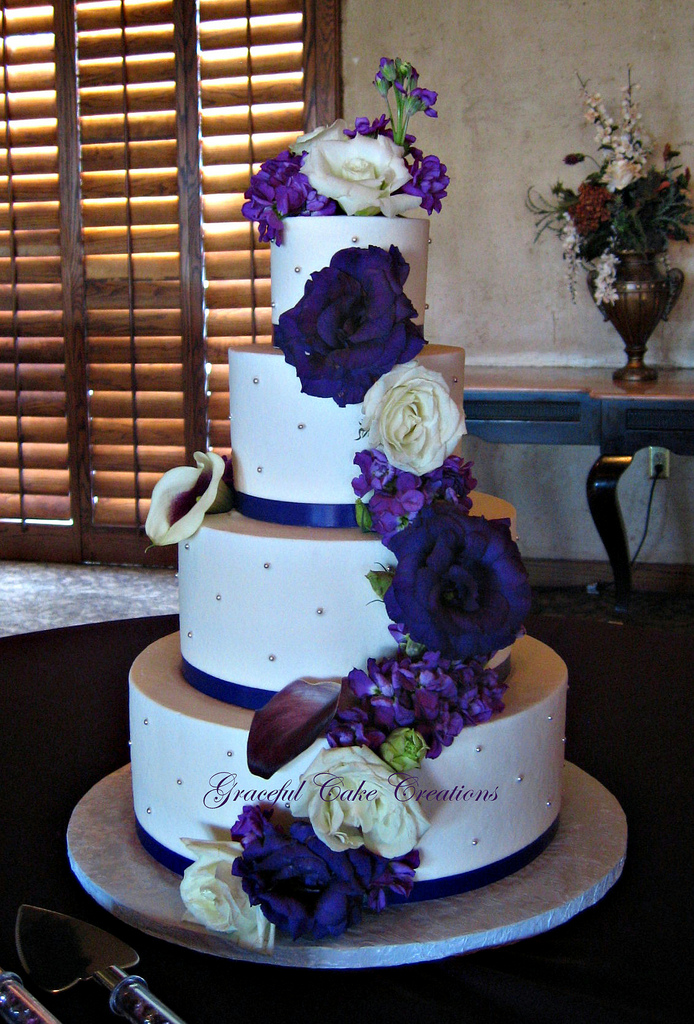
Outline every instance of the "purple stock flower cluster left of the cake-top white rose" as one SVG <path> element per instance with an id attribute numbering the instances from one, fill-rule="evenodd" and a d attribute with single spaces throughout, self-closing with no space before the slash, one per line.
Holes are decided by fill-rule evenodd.
<path id="1" fill-rule="evenodd" d="M 320 196 L 301 172 L 302 155 L 286 150 L 272 160 L 266 160 L 251 178 L 244 194 L 247 203 L 242 213 L 258 221 L 261 242 L 281 244 L 285 217 L 310 215 L 330 216 L 337 212 L 335 201 Z"/>

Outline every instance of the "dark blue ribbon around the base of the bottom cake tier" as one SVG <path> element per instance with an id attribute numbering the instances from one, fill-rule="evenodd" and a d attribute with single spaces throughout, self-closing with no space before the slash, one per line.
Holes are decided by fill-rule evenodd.
<path id="1" fill-rule="evenodd" d="M 426 879 L 422 882 L 415 882 L 409 896 L 398 896 L 395 893 L 388 894 L 389 903 L 417 903 L 425 899 L 440 899 L 443 896 L 456 896 L 458 893 L 467 893 L 472 889 L 481 889 L 482 886 L 489 886 L 492 882 L 505 879 L 507 874 L 513 874 L 525 867 L 531 860 L 538 857 L 543 850 L 549 846 L 559 827 L 559 815 L 554 819 L 550 827 L 543 833 L 532 843 L 528 843 L 522 850 L 517 850 L 508 857 L 502 857 L 493 864 L 486 864 L 484 867 L 476 867 L 472 871 L 462 871 L 460 874 L 448 874 L 443 879 Z M 135 828 L 137 838 L 147 851 L 149 856 L 158 860 L 160 864 L 182 874 L 192 860 L 175 850 L 170 850 L 164 846 L 154 836 L 150 836 L 146 828 L 143 828 L 138 818 L 135 818 Z"/>

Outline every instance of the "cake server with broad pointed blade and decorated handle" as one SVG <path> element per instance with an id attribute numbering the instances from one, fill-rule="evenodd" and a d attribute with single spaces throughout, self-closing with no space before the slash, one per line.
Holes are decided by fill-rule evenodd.
<path id="1" fill-rule="evenodd" d="M 183 1024 L 151 994 L 143 978 L 126 974 L 124 969 L 139 959 L 135 950 L 100 928 L 25 903 L 17 912 L 15 940 L 21 965 L 39 988 L 62 992 L 94 978 L 111 992 L 111 1010 L 132 1024 Z"/>

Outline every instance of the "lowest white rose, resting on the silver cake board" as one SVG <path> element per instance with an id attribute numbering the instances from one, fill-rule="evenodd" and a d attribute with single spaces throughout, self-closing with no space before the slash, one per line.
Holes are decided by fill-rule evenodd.
<path id="1" fill-rule="evenodd" d="M 270 952 L 274 944 L 274 925 L 258 906 L 251 906 L 241 879 L 231 866 L 244 852 L 238 843 L 213 843 L 184 839 L 194 858 L 186 867 L 180 886 L 187 913 L 212 932 L 224 932 L 244 949 Z"/>

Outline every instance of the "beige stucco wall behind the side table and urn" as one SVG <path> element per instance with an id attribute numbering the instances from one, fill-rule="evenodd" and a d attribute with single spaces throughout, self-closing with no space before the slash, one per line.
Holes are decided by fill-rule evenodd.
<path id="1" fill-rule="evenodd" d="M 447 164 L 443 213 L 432 217 L 427 337 L 464 345 L 468 365 L 623 362 L 613 328 L 603 323 L 578 281 L 566 288 L 558 241 L 533 245 L 528 187 L 546 193 L 562 177 L 569 152 L 595 153 L 576 73 L 618 112 L 626 69 L 640 83 L 643 125 L 656 150 L 694 141 L 694 4 L 691 0 L 343 0 L 345 117 L 375 117 L 372 86 L 379 58 L 399 55 L 438 91 L 437 120 L 418 116 L 425 152 Z M 683 159 L 694 164 L 694 147 Z M 683 295 L 659 325 L 649 357 L 694 367 L 694 245 L 676 244 Z M 523 551 L 535 558 L 604 558 L 584 498 L 597 450 L 466 442 L 480 484 L 519 509 Z M 645 453 L 622 477 L 630 539 L 641 536 L 649 481 Z M 659 483 L 641 560 L 694 561 L 694 461 L 674 458 Z"/>

